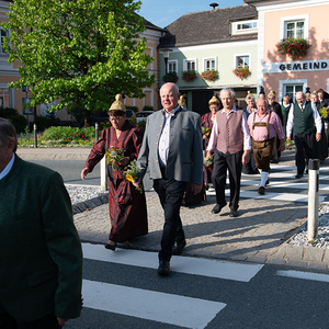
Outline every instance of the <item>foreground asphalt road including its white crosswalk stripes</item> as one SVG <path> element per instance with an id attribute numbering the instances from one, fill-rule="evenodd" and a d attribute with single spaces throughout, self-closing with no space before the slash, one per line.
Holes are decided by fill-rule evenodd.
<path id="1" fill-rule="evenodd" d="M 103 246 L 95 248 L 103 254 Z M 250 264 L 206 260 L 214 266 L 207 274 L 203 259 L 177 257 L 171 275 L 160 277 L 156 262 L 148 268 L 148 252 L 132 254 L 137 265 L 121 263 L 129 252 L 136 251 L 105 250 L 102 261 L 87 252 L 83 285 L 92 285 L 83 290 L 81 317 L 66 328 L 328 328 L 328 274 L 253 264 L 249 276 Z"/>

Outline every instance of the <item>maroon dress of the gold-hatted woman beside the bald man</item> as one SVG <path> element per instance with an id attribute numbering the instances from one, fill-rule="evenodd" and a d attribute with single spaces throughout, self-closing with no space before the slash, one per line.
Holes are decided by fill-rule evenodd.
<path id="1" fill-rule="evenodd" d="M 91 171 L 112 146 L 124 149 L 125 157 L 129 157 L 131 161 L 137 159 L 143 134 L 141 128 L 133 126 L 127 121 L 118 138 L 113 127 L 104 129 L 100 140 L 91 149 L 86 167 Z M 139 193 L 124 178 L 125 170 L 126 167 L 113 170 L 111 163 L 107 166 L 109 207 L 112 225 L 109 240 L 115 242 L 125 242 L 148 232 L 145 192 Z"/>

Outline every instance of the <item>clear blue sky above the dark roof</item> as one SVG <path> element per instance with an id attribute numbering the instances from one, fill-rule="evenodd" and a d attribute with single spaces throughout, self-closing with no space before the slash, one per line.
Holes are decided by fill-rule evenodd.
<path id="1" fill-rule="evenodd" d="M 243 0 L 141 0 L 137 12 L 147 21 L 159 27 L 166 27 L 185 13 L 212 10 L 211 3 L 218 3 L 218 8 L 243 4 Z"/>

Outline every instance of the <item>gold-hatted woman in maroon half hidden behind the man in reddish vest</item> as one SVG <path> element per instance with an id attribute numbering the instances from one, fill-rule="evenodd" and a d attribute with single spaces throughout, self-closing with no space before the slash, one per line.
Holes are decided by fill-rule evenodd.
<path id="1" fill-rule="evenodd" d="M 203 129 L 203 149 L 204 150 L 208 146 L 211 133 L 212 133 L 213 125 L 214 125 L 214 120 L 215 120 L 216 113 L 219 111 L 222 104 L 220 104 L 220 101 L 214 95 L 209 100 L 208 105 L 209 105 L 211 112 L 204 114 L 201 117 L 201 126 Z M 204 164 L 204 184 L 205 184 L 206 189 L 208 189 L 208 184 L 212 181 L 212 172 L 213 172 L 213 164 L 211 164 L 211 166 Z"/>

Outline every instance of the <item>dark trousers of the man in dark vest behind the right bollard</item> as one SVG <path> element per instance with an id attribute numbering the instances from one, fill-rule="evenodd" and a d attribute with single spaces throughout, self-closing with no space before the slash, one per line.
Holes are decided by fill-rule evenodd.
<path id="1" fill-rule="evenodd" d="M 297 173 L 303 174 L 305 169 L 305 159 L 308 166 L 308 159 L 315 157 L 315 133 L 311 134 L 295 134 L 295 161 L 297 166 Z"/>

